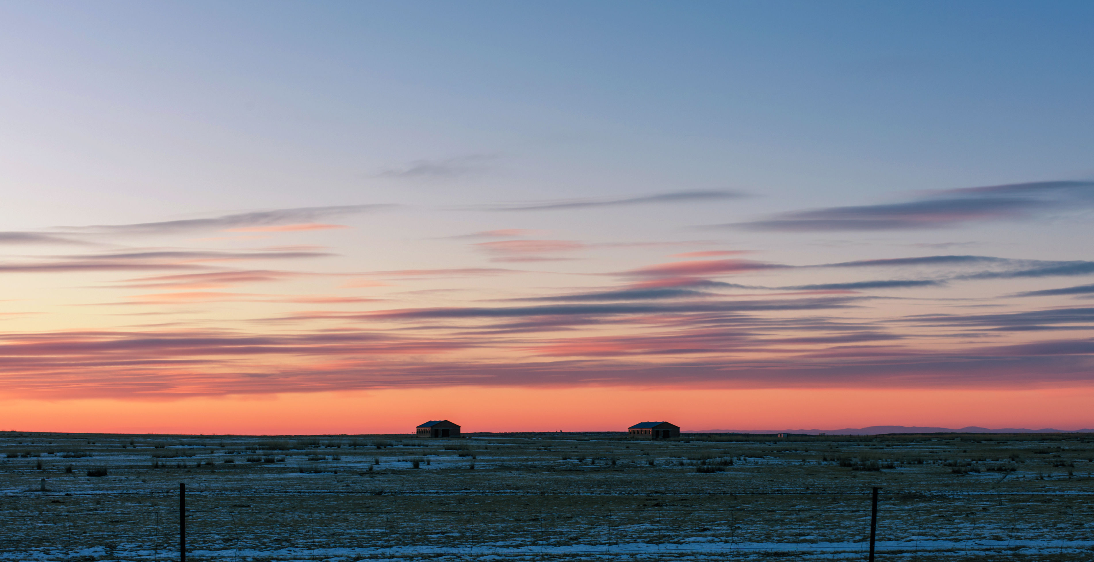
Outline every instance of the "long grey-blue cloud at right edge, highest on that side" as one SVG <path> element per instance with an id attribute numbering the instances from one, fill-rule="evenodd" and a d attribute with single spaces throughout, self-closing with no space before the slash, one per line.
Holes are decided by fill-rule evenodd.
<path id="1" fill-rule="evenodd" d="M 1056 209 L 1094 207 L 1094 182 L 1036 182 L 939 190 L 899 203 L 792 211 L 720 226 L 753 231 L 894 231 L 1029 219 Z"/>

